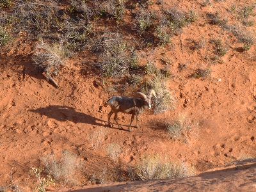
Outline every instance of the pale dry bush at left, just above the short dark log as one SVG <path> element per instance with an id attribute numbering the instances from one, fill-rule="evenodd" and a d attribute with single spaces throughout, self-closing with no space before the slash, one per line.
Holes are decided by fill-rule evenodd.
<path id="1" fill-rule="evenodd" d="M 61 43 L 50 45 L 41 41 L 36 45 L 32 59 L 34 65 L 40 70 L 50 75 L 58 75 L 65 56 L 67 56 L 67 51 Z"/>

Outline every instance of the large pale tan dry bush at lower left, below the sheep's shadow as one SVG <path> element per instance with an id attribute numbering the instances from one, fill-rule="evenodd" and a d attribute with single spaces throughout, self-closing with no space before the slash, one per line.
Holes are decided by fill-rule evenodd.
<path id="1" fill-rule="evenodd" d="M 62 184 L 76 184 L 76 173 L 80 170 L 81 164 L 78 157 L 68 151 L 64 151 L 61 158 L 49 155 L 42 159 L 45 170 L 54 179 Z"/>

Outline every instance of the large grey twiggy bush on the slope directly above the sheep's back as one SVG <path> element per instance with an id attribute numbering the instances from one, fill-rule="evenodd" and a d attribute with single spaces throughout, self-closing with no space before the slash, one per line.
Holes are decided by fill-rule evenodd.
<path id="1" fill-rule="evenodd" d="M 104 77 L 122 77 L 137 65 L 136 52 L 119 34 L 109 34 L 98 49 L 101 52 L 99 67 Z"/>

